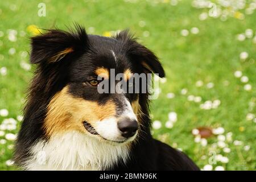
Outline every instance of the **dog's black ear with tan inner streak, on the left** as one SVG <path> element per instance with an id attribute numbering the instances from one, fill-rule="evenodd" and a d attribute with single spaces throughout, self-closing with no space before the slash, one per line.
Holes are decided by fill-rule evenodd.
<path id="1" fill-rule="evenodd" d="M 85 29 L 76 25 L 74 30 L 48 30 L 46 34 L 31 38 L 32 64 L 55 63 L 69 53 L 88 48 L 88 36 Z"/>

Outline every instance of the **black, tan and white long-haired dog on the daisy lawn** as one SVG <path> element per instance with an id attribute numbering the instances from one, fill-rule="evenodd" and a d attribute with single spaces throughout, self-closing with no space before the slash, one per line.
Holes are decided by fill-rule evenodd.
<path id="1" fill-rule="evenodd" d="M 152 138 L 148 90 L 98 92 L 111 69 L 131 86 L 134 73 L 165 76 L 158 57 L 129 31 L 109 38 L 77 24 L 48 30 L 31 38 L 30 61 L 36 70 L 14 154 L 22 169 L 199 170 L 183 152 Z"/>

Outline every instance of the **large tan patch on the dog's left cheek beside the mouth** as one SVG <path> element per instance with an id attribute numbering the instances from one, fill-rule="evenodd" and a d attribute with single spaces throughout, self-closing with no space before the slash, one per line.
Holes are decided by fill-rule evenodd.
<path id="1" fill-rule="evenodd" d="M 65 86 L 49 102 L 43 127 L 48 137 L 67 130 L 85 133 L 87 131 L 82 125 L 83 121 L 93 126 L 96 121 L 114 115 L 114 102 L 108 101 L 104 105 L 98 105 L 94 101 L 76 98 L 68 93 L 68 86 Z"/>

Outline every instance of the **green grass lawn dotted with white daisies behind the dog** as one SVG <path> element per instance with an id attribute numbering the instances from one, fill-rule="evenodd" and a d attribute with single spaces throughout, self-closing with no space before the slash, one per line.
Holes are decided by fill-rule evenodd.
<path id="1" fill-rule="evenodd" d="M 40 2 L 46 4 L 46 17 L 38 16 Z M 22 115 L 34 69 L 29 70 L 27 65 L 31 36 L 28 26 L 67 29 L 65 26 L 72 26 L 75 21 L 99 35 L 130 28 L 159 56 L 166 70 L 167 80 L 160 83 L 159 98 L 151 105 L 152 121 L 156 121 L 154 137 L 183 150 L 200 168 L 216 154 L 213 170 L 217 166 L 225 170 L 255 170 L 256 13 L 246 10 L 251 2 L 246 1 L 245 7 L 228 16 L 223 14 L 231 11 L 233 5 L 217 6 L 226 9 L 223 16 L 204 19 L 209 8 L 198 9 L 192 6 L 192 1 L 185 0 L 177 1 L 177 5 L 174 0 L 1 1 L 0 110 L 7 109 L 9 115 L 0 116 L 0 124 L 6 118 Z M 192 27 L 196 27 L 192 29 L 194 34 Z M 253 30 L 253 36 L 247 29 Z M 242 34 L 240 40 L 238 34 Z M 240 55 L 241 52 L 247 55 Z M 236 71 L 245 77 L 238 77 Z M 168 98 L 167 94 L 175 97 Z M 214 100 L 220 104 L 209 102 Z M 210 109 L 211 106 L 216 108 Z M 166 127 L 170 112 L 177 114 L 172 128 Z M 19 125 L 18 121 L 17 129 L 11 131 L 0 127 L 0 170 L 16 169 L 9 161 L 14 142 L 6 134 L 16 134 Z M 192 135 L 192 130 L 201 126 L 221 127 L 225 131 L 207 138 L 206 143 Z"/>

